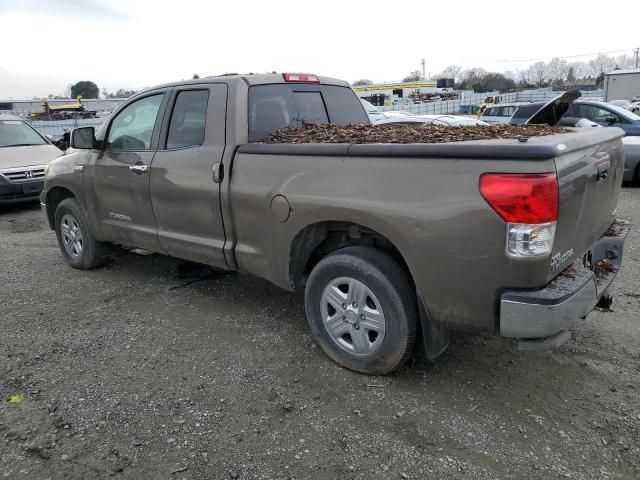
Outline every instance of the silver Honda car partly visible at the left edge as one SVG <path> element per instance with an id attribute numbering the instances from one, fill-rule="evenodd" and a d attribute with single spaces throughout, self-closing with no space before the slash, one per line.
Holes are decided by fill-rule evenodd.
<path id="1" fill-rule="evenodd" d="M 37 200 L 50 160 L 62 155 L 31 125 L 0 115 L 0 205 Z"/>

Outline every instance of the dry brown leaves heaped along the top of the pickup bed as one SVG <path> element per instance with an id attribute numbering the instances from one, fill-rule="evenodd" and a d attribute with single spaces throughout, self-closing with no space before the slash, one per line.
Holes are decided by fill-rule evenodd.
<path id="1" fill-rule="evenodd" d="M 469 140 L 516 139 L 567 133 L 547 125 L 348 125 L 307 124 L 283 128 L 271 134 L 267 143 L 445 143 Z"/>

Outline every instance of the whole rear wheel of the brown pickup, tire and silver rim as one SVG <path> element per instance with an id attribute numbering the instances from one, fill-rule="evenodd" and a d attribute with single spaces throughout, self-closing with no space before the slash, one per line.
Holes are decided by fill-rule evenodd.
<path id="1" fill-rule="evenodd" d="M 384 252 L 347 247 L 320 260 L 307 281 L 305 308 L 324 352 L 346 368 L 384 374 L 411 355 L 415 290 Z"/>

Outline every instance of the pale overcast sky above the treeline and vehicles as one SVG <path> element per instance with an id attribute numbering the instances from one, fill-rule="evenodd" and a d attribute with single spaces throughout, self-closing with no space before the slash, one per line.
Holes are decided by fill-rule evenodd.
<path id="1" fill-rule="evenodd" d="M 0 0 L 0 99 L 225 72 L 395 81 L 640 46 L 640 1 Z M 569 61 L 589 57 L 568 58 Z"/>

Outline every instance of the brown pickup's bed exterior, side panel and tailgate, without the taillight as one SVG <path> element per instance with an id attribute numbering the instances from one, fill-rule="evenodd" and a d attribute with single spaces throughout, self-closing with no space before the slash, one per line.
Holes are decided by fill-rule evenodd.
<path id="1" fill-rule="evenodd" d="M 230 185 L 236 259 L 242 270 L 291 288 L 289 239 L 313 223 L 353 222 L 398 248 L 436 321 L 496 331 L 500 292 L 542 288 L 584 256 L 613 221 L 622 136 L 603 128 L 526 141 L 243 145 Z M 606 162 L 606 178 L 597 179 L 598 165 Z M 478 188 L 486 172 L 557 173 L 551 258 L 505 255 L 505 223 Z M 250 219 L 272 216 L 266 199 L 275 193 L 287 198 L 292 214 L 265 229 Z M 255 212 L 256 205 L 264 211 Z M 274 255 L 281 261 L 264 260 Z"/>

